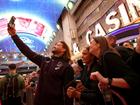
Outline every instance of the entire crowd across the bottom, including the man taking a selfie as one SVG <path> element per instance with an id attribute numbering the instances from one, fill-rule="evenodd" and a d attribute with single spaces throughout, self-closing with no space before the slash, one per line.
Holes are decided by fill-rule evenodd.
<path id="1" fill-rule="evenodd" d="M 3 94 L 9 88 L 10 79 L 3 82 L 8 78 L 7 75 L 1 79 L 2 105 L 12 105 L 11 102 L 15 99 L 20 102 L 13 105 L 22 105 L 24 101 L 26 105 L 140 104 L 139 35 L 136 47 L 129 42 L 118 46 L 116 37 L 111 35 L 95 36 L 91 39 L 90 45 L 83 48 L 81 59 L 71 61 L 69 47 L 64 41 L 56 42 L 51 57 L 44 57 L 32 51 L 18 37 L 15 27 L 8 25 L 8 32 L 19 50 L 37 64 L 40 70 L 34 78 L 25 78 L 24 81 L 17 80 L 18 78 L 11 80 L 22 81 L 18 82 L 18 86 L 21 85 L 18 90 L 23 91 L 24 97 L 19 94 L 15 96 L 14 93 L 7 95 L 8 92 Z M 12 67 L 13 70 L 12 75 L 16 77 L 16 67 Z M 11 65 L 8 75 L 11 76 Z"/>

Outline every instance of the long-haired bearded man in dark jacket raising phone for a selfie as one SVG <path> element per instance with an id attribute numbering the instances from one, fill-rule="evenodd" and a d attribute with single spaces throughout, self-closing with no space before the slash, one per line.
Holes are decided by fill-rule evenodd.
<path id="1" fill-rule="evenodd" d="M 73 101 L 66 95 L 67 84 L 74 79 L 67 44 L 64 41 L 56 42 L 52 48 L 52 57 L 45 57 L 32 51 L 18 37 L 15 27 L 9 24 L 8 32 L 19 50 L 40 67 L 34 105 L 72 105 Z"/>

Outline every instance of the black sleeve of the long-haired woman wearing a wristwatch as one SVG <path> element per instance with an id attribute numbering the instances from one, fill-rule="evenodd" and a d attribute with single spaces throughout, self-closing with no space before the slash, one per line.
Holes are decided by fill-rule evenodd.
<path id="1" fill-rule="evenodd" d="M 104 56 L 105 68 L 112 78 L 123 78 L 131 88 L 139 84 L 139 76 L 131 69 L 119 55 L 107 53 Z"/>

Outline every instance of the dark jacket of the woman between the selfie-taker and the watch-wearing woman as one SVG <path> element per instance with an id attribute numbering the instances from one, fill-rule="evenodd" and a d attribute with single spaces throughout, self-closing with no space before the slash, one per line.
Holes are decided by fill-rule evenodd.
<path id="1" fill-rule="evenodd" d="M 99 71 L 99 65 L 97 65 L 94 59 L 94 62 L 90 65 L 89 71 L 85 66 L 81 74 L 81 81 L 86 87 L 86 89 L 81 92 L 81 105 L 104 105 L 102 94 L 98 88 L 98 81 L 90 79 L 90 74 L 95 71 Z"/>

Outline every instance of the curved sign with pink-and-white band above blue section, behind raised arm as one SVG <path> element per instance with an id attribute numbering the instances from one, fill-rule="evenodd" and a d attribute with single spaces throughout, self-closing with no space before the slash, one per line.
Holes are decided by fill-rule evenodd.
<path id="1" fill-rule="evenodd" d="M 9 19 L 6 18 L 0 19 L 0 49 L 2 52 L 16 52 L 18 49 L 14 43 L 11 43 L 10 36 L 7 32 L 8 20 Z M 46 30 L 45 25 L 33 19 L 23 17 L 16 17 L 15 25 L 16 31 L 24 43 L 26 43 L 32 50 L 37 52 L 44 51 L 46 41 L 43 41 L 43 37 L 47 37 L 47 35 L 44 35 L 44 31 Z M 9 48 L 5 45 L 8 45 Z"/>

